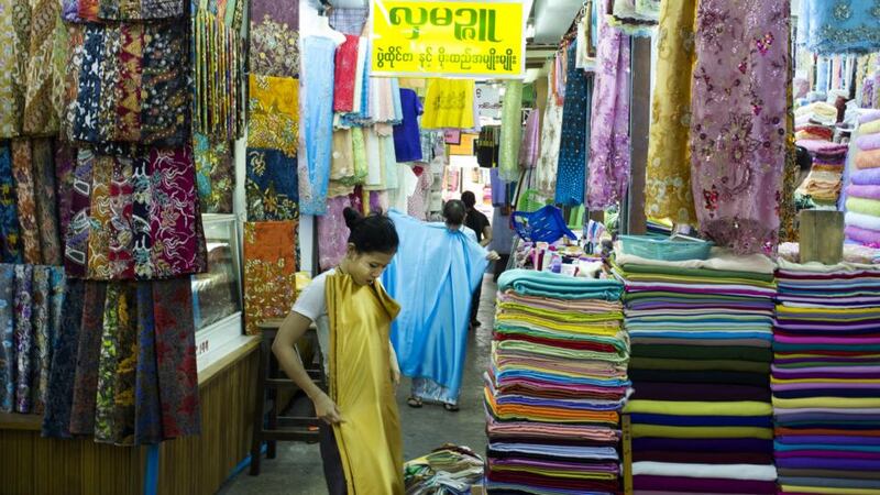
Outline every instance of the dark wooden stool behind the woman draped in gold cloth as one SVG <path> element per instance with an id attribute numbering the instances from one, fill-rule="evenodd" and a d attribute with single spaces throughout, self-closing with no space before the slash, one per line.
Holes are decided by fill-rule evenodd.
<path id="1" fill-rule="evenodd" d="M 262 332 L 260 342 L 260 371 L 257 372 L 256 383 L 256 407 L 254 408 L 254 433 L 251 443 L 251 475 L 260 474 L 260 462 L 262 461 L 261 449 L 263 442 L 267 443 L 266 459 L 275 459 L 277 453 L 277 441 L 295 442 L 317 442 L 319 439 L 318 429 L 320 419 L 306 416 L 278 416 L 278 389 L 298 389 L 296 384 L 287 378 L 284 371 L 279 370 L 278 360 L 272 353 L 272 343 L 278 333 L 282 324 L 280 319 L 266 320 L 257 327 Z M 306 336 L 315 336 L 316 328 L 311 326 Z M 317 339 L 316 339 L 317 342 Z M 299 343 L 295 346 L 296 353 L 300 356 Z M 320 355 L 320 350 L 316 346 L 316 352 Z M 323 365 L 317 369 L 306 366 L 311 380 L 319 387 L 327 388 L 327 378 L 323 374 Z"/>

